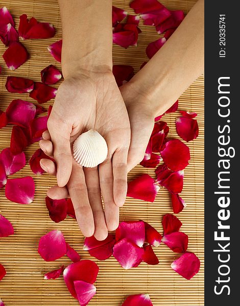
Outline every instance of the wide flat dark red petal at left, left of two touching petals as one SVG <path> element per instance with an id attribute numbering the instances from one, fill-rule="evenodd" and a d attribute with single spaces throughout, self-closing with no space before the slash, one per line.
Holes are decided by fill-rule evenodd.
<path id="1" fill-rule="evenodd" d="M 33 86 L 32 80 L 20 77 L 8 77 L 5 85 L 7 91 L 16 93 L 30 92 Z"/>

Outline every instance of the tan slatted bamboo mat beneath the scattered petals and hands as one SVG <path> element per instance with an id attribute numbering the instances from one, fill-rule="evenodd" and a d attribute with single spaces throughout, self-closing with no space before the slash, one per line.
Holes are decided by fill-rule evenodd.
<path id="1" fill-rule="evenodd" d="M 115 6 L 129 9 L 129 0 L 113 1 Z M 185 13 L 194 5 L 195 0 L 167 0 L 162 1 L 169 9 L 182 9 Z M 6 110 L 10 101 L 14 98 L 22 98 L 34 102 L 27 94 L 11 94 L 5 89 L 7 75 L 18 75 L 40 81 L 40 71 L 47 65 L 54 64 L 60 68 L 49 54 L 46 47 L 61 38 L 61 23 L 57 0 L 6 0 L 0 2 L 0 7 L 7 6 L 14 16 L 18 27 L 18 16 L 26 13 L 38 20 L 52 22 L 57 29 L 57 34 L 47 40 L 26 40 L 23 44 L 29 50 L 30 60 L 16 71 L 7 69 L 2 57 L 0 65 L 3 72 L 0 75 L 0 109 Z M 96 20 L 97 22 L 97 20 Z M 153 27 L 140 24 L 142 33 L 139 35 L 138 47 L 130 47 L 127 50 L 114 45 L 114 63 L 131 64 L 135 72 L 143 61 L 147 60 L 145 48 L 149 42 L 159 36 Z M 177 47 L 177 46 L 176 46 Z M 0 44 L 0 53 L 5 47 Z M 58 84 L 59 85 L 59 84 Z M 200 127 L 199 137 L 188 143 L 191 153 L 190 165 L 185 170 L 184 188 L 182 197 L 187 207 L 178 215 L 183 223 L 182 231 L 189 236 L 189 251 L 193 251 L 201 260 L 201 269 L 190 281 L 174 272 L 170 265 L 179 254 L 173 253 L 165 245 L 155 248 L 160 260 L 157 266 L 141 263 L 138 268 L 124 270 L 114 258 L 100 262 L 95 260 L 100 267 L 97 283 L 97 294 L 90 301 L 90 305 L 120 306 L 124 298 L 130 294 L 149 293 L 153 304 L 171 306 L 195 306 L 204 305 L 204 126 L 203 126 L 203 99 L 204 79 L 201 76 L 191 85 L 179 99 L 180 110 L 191 110 L 198 113 Z M 47 108 L 51 103 L 43 105 Z M 178 137 L 175 129 L 175 118 L 179 112 L 164 116 L 164 120 L 170 126 L 170 137 Z M 9 146 L 12 126 L 8 125 L 0 130 L 0 149 Z M 38 144 L 29 146 L 26 150 L 27 161 Z M 135 167 L 129 173 L 129 180 L 141 173 L 149 173 L 154 177 L 154 170 Z M 65 287 L 62 276 L 56 280 L 44 281 L 45 272 L 68 265 L 70 260 L 66 257 L 55 262 L 46 263 L 37 252 L 39 238 L 53 229 L 60 229 L 66 241 L 73 246 L 82 259 L 90 259 L 87 251 L 83 251 L 83 236 L 74 219 L 67 217 L 61 223 L 54 223 L 48 216 L 44 197 L 46 190 L 55 185 L 54 177 L 47 174 L 36 176 L 31 172 L 29 164 L 11 177 L 31 175 L 36 184 L 34 202 L 31 205 L 19 205 L 5 198 L 4 188 L 0 189 L 0 209 L 8 218 L 14 228 L 15 235 L 1 238 L 0 263 L 2 263 L 7 275 L 0 283 L 0 297 L 5 305 L 78 305 L 78 301 L 70 296 Z M 160 189 L 154 203 L 148 203 L 132 198 L 127 198 L 124 208 L 121 209 L 121 220 L 143 219 L 162 232 L 161 219 L 166 213 L 172 213 L 169 193 Z M 93 259 L 93 258 L 91 258 Z M 93 259 L 94 260 L 94 259 Z"/>

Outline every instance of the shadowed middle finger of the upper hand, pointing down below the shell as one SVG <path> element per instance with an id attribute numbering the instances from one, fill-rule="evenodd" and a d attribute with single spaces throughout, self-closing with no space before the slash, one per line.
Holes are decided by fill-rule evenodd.
<path id="1" fill-rule="evenodd" d="M 88 199 L 90 202 L 94 218 L 94 225 L 95 225 L 94 237 L 97 240 L 104 240 L 105 238 L 107 238 L 108 229 L 103 211 L 98 167 L 83 168 L 83 169 L 85 173 Z"/>

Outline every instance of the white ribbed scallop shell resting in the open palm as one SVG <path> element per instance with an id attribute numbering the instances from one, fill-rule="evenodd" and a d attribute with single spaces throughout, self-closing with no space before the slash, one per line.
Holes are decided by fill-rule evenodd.
<path id="1" fill-rule="evenodd" d="M 95 130 L 81 134 L 75 140 L 73 150 L 76 162 L 89 168 L 101 164 L 108 155 L 106 140 Z"/>

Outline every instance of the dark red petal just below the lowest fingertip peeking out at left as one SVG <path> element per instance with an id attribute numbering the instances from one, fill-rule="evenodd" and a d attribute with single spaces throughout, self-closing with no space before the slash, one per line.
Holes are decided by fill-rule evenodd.
<path id="1" fill-rule="evenodd" d="M 46 208 L 49 211 L 50 218 L 58 223 L 63 221 L 67 216 L 67 203 L 65 199 L 53 200 L 45 197 Z"/>

